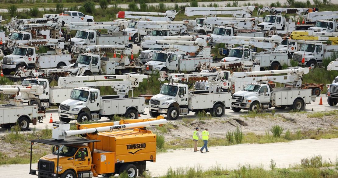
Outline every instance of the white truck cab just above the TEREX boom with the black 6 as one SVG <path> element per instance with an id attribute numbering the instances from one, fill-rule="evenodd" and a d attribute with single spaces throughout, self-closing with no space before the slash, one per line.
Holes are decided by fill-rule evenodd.
<path id="1" fill-rule="evenodd" d="M 77 56 L 76 62 L 64 68 L 86 68 L 85 75 L 99 73 L 101 67 L 101 56 L 95 53 L 84 53 Z"/>

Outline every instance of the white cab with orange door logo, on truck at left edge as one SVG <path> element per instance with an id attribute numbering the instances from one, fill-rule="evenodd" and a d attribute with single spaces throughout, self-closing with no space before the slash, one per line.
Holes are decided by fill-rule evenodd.
<path id="1" fill-rule="evenodd" d="M 15 72 L 19 67 L 35 68 L 35 48 L 19 47 L 13 50 L 12 54 L 6 55 L 2 59 L 1 68 L 5 75 Z"/>

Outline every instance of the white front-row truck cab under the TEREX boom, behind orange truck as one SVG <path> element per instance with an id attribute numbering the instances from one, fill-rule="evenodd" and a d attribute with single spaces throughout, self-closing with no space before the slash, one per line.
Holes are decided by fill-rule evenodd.
<path id="1" fill-rule="evenodd" d="M 69 123 L 99 120 L 100 90 L 88 87 L 78 87 L 72 90 L 70 98 L 59 106 L 60 121 Z"/>

